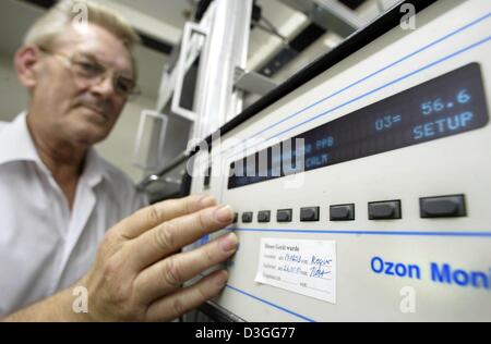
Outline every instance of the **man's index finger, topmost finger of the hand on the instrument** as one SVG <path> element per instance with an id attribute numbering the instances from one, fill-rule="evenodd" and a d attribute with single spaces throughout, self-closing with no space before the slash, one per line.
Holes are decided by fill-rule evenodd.
<path id="1" fill-rule="evenodd" d="M 136 211 L 122 220 L 118 226 L 123 237 L 132 239 L 163 222 L 214 206 L 216 206 L 215 198 L 206 195 L 166 200 Z"/>

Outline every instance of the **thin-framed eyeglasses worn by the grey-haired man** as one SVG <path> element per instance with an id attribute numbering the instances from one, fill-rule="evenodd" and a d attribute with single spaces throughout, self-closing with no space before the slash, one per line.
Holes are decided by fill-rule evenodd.
<path id="1" fill-rule="evenodd" d="M 61 52 L 50 51 L 44 47 L 39 47 L 39 50 L 50 56 L 63 58 L 69 63 L 73 74 L 94 85 L 98 85 L 105 81 L 110 72 L 109 67 L 97 62 L 97 60 L 91 56 L 81 53 L 69 57 Z M 119 96 L 130 98 L 140 95 L 140 89 L 133 79 L 121 75 L 119 72 L 112 72 L 111 74 L 112 88 Z"/>

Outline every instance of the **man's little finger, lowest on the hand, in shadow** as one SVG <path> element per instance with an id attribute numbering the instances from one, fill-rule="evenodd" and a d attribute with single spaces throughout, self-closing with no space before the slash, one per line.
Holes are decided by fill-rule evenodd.
<path id="1" fill-rule="evenodd" d="M 148 307 L 147 321 L 169 321 L 218 295 L 228 280 L 226 271 L 217 271 L 199 283 L 164 297 Z"/>

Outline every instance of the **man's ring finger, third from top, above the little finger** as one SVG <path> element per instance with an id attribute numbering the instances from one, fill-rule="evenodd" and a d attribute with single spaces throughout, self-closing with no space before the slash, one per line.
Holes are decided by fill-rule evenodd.
<path id="1" fill-rule="evenodd" d="M 185 281 L 224 262 L 235 254 L 237 235 L 229 233 L 192 251 L 175 255 L 144 270 L 134 281 L 140 302 L 151 304 L 173 293 Z"/>

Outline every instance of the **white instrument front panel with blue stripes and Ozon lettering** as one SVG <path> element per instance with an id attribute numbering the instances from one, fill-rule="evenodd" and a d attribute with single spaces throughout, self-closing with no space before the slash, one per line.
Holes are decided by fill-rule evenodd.
<path id="1" fill-rule="evenodd" d="M 448 78 L 441 96 L 431 89 L 432 81 L 472 66 L 483 96 L 474 103 L 481 121 L 476 127 L 478 114 L 469 107 L 478 91 L 466 86 L 465 77 Z M 420 91 L 410 96 L 411 89 Z M 400 95 L 406 94 L 412 98 L 405 108 Z M 399 115 L 418 115 L 420 125 L 408 124 L 411 144 L 397 148 L 382 143 L 380 152 L 364 155 L 368 148 L 358 147 L 359 157 L 348 153 L 333 164 L 319 155 L 311 164 L 325 167 L 254 183 L 241 180 L 242 185 L 229 188 L 232 162 L 326 123 L 334 127 L 336 120 L 343 123 L 372 105 L 388 105 L 391 98 L 402 112 L 381 112 L 379 120 L 369 111 L 375 118 L 366 123 L 373 124 L 374 137 L 383 131 L 396 135 L 403 133 L 397 130 Z M 261 322 L 490 321 L 489 101 L 491 2 L 445 0 L 418 13 L 416 29 L 395 27 L 224 135 L 213 146 L 209 187 L 203 186 L 202 176 L 192 183 L 192 193 L 208 191 L 239 216 L 228 230 L 238 234 L 240 248 L 216 302 L 247 321 Z M 432 118 L 438 112 L 440 118 Z M 336 135 L 324 147 L 333 157 Z M 422 137 L 427 142 L 416 143 Z M 197 157 L 194 170 L 205 171 L 207 164 Z M 339 205 L 349 207 L 334 214 L 347 221 L 332 220 L 331 207 Z M 301 220 L 303 208 L 313 209 L 303 213 L 313 216 L 310 221 Z M 278 222 L 278 210 L 285 209 L 291 210 L 291 219 Z M 264 211 L 270 219 L 259 219 Z M 242 221 L 248 212 L 251 222 Z M 335 302 L 255 282 L 264 238 L 334 242 Z"/>

